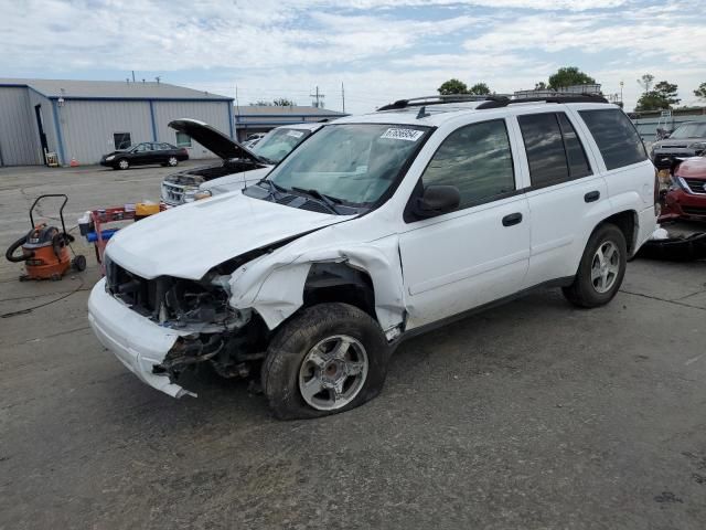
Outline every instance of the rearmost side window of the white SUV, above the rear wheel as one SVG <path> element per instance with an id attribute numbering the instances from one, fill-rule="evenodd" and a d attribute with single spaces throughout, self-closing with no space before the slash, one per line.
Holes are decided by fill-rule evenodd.
<path id="1" fill-rule="evenodd" d="M 630 118 L 618 108 L 579 110 L 593 135 L 607 169 L 646 160 L 648 153 Z"/>

